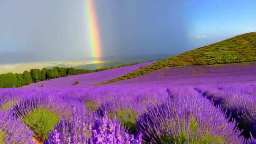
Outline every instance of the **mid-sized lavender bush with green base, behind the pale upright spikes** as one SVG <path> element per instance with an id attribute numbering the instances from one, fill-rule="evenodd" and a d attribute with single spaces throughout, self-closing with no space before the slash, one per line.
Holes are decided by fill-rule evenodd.
<path id="1" fill-rule="evenodd" d="M 110 119 L 121 120 L 122 126 L 125 126 L 130 133 L 136 134 L 136 120 L 146 111 L 147 106 L 168 97 L 166 89 L 158 90 L 152 88 L 137 90 L 137 87 L 119 89 L 111 93 L 107 102 L 101 104 L 98 113 L 103 116 L 106 112 Z"/>

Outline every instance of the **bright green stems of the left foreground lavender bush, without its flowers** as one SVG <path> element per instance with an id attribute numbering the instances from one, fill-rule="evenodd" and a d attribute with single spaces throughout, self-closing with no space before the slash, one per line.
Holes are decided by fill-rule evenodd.
<path id="1" fill-rule="evenodd" d="M 55 112 L 46 108 L 37 108 L 27 116 L 22 117 L 22 122 L 30 127 L 40 140 L 46 140 L 48 132 L 59 122 L 60 117 Z"/>

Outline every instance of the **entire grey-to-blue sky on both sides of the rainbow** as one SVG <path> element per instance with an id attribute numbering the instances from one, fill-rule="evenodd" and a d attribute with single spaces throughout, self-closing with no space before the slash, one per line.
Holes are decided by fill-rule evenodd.
<path id="1" fill-rule="evenodd" d="M 179 54 L 256 31 L 256 0 L 92 0 L 101 57 Z M 85 0 L 0 0 L 0 61 L 93 56 Z"/>

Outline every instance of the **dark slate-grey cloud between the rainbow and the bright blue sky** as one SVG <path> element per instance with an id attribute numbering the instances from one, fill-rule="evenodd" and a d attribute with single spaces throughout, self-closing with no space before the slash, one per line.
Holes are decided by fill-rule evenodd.
<path id="1" fill-rule="evenodd" d="M 182 1 L 98 0 L 97 6 L 104 54 L 176 54 L 187 46 Z"/>

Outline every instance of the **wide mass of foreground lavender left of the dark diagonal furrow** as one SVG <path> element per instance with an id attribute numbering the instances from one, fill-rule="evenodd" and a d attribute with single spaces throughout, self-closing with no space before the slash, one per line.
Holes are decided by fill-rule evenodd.
<path id="1" fill-rule="evenodd" d="M 30 141 L 32 135 L 46 144 L 251 143 L 236 120 L 193 89 L 7 89 L 0 95 L 0 108 L 29 127 Z"/>

